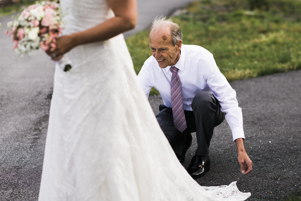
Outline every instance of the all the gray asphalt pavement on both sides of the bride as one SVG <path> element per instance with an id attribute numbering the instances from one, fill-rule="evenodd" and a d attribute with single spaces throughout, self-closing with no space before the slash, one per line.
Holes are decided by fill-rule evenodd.
<path id="1" fill-rule="evenodd" d="M 169 15 L 189 2 L 138 0 L 137 27 L 125 36 L 148 28 L 155 16 Z M 0 200 L 37 200 L 54 64 L 42 51 L 17 59 L 13 43 L 4 35 L 10 20 L 11 16 L 0 17 Z M 248 200 L 282 200 L 301 194 L 301 71 L 230 84 L 243 111 L 245 147 L 254 163 L 253 172 L 242 175 L 238 171 L 236 145 L 224 121 L 215 128 L 211 141 L 211 170 L 196 181 L 203 186 L 237 181 L 241 191 L 251 192 Z M 149 101 L 157 113 L 160 95 Z M 193 137 L 185 167 L 196 149 Z"/>

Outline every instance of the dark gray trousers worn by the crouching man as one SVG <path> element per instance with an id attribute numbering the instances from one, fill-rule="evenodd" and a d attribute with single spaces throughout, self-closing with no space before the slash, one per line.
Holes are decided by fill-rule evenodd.
<path id="1" fill-rule="evenodd" d="M 221 111 L 216 97 L 208 91 L 197 93 L 191 107 L 193 111 L 184 111 L 187 128 L 183 133 L 175 128 L 172 109 L 165 105 L 160 105 L 157 121 L 175 153 L 181 155 L 186 136 L 196 132 L 196 155 L 208 155 L 213 129 L 224 121 L 225 113 Z"/>

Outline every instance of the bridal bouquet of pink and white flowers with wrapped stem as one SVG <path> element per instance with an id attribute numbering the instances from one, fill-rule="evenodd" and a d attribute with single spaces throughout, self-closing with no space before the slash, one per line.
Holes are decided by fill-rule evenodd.
<path id="1" fill-rule="evenodd" d="M 5 34 L 12 35 L 15 53 L 23 57 L 32 55 L 39 48 L 44 51 L 56 48 L 63 24 L 59 3 L 36 2 L 24 9 L 16 20 L 8 22 Z M 65 56 L 58 63 L 65 72 L 71 69 L 71 62 Z"/>

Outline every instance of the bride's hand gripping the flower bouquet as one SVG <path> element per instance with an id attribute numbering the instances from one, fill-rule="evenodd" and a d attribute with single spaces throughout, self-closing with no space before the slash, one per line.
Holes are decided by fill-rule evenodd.
<path id="1" fill-rule="evenodd" d="M 59 61 L 65 53 L 75 47 L 75 42 L 71 35 L 61 36 L 56 40 L 56 47 L 50 48 L 46 53 L 54 61 Z"/>

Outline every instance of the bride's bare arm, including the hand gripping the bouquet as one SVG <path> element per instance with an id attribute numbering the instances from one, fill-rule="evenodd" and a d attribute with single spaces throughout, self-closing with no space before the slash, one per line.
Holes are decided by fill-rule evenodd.
<path id="1" fill-rule="evenodd" d="M 77 45 L 104 41 L 120 33 L 133 29 L 137 22 L 136 0 L 107 0 L 115 17 L 85 31 L 61 36 L 57 39 L 57 47 L 48 51 L 48 55 L 56 55 L 52 60 L 61 57 Z"/>

